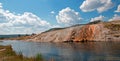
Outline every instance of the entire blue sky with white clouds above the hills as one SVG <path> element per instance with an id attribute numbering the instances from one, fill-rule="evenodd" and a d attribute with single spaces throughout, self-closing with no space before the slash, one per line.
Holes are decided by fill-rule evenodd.
<path id="1" fill-rule="evenodd" d="M 0 34 L 120 19 L 120 0 L 0 0 Z"/>

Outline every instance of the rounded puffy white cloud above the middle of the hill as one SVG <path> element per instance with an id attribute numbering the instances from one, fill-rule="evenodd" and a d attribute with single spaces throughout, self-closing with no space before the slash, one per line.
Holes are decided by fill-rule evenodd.
<path id="1" fill-rule="evenodd" d="M 58 15 L 56 16 L 56 19 L 58 23 L 72 25 L 80 23 L 80 20 L 82 18 L 80 17 L 79 12 L 75 12 L 73 9 L 67 7 L 59 11 Z"/>

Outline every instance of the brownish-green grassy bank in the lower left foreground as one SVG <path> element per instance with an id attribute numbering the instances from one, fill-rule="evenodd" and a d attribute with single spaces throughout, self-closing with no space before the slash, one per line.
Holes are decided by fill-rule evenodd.
<path id="1" fill-rule="evenodd" d="M 43 61 L 43 59 L 40 54 L 36 57 L 27 58 L 22 53 L 16 54 L 11 46 L 0 45 L 0 61 Z"/>

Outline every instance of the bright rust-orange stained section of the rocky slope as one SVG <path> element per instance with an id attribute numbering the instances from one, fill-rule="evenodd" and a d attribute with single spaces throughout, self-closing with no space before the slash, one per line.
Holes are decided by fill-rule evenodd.
<path id="1" fill-rule="evenodd" d="M 76 35 L 75 41 L 93 41 L 95 40 L 96 35 L 101 34 L 101 26 L 98 25 L 86 25 L 82 27 L 82 29 L 79 31 L 80 35 Z"/>

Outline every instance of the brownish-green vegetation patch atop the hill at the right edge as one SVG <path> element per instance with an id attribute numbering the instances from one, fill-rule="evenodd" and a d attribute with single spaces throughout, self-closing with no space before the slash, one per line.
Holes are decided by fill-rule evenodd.
<path id="1" fill-rule="evenodd" d="M 120 30 L 120 21 L 105 23 L 105 27 L 108 29 L 111 29 L 113 31 L 119 31 Z"/>

